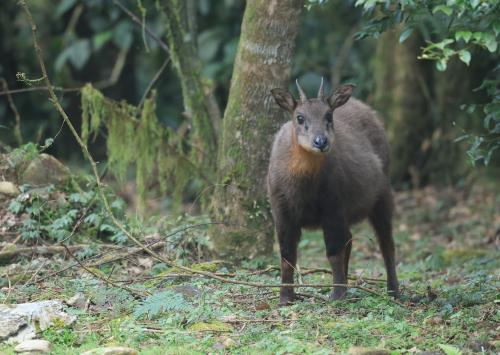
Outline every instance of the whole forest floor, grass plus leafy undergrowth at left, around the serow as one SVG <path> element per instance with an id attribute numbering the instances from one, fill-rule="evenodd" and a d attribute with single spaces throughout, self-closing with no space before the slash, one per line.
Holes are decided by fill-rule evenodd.
<path id="1" fill-rule="evenodd" d="M 64 251 L 45 255 L 28 252 L 3 260 L 0 302 L 68 300 L 75 294 L 83 297 L 80 308 L 67 308 L 77 317 L 71 327 L 53 326 L 40 334 L 51 342 L 54 354 L 79 354 L 108 345 L 129 346 L 141 354 L 362 353 L 362 349 L 353 347 L 385 349 L 394 354 L 499 353 L 500 195 L 496 191 L 483 187 L 470 191 L 427 188 L 396 194 L 394 232 L 401 304 L 388 298 L 384 282 L 376 280 L 384 278 L 385 273 L 376 241 L 366 224 L 353 230 L 350 282 L 380 295 L 352 288 L 346 300 L 331 302 L 325 300 L 330 291 L 327 288 L 301 288 L 298 292 L 304 294 L 302 301 L 279 308 L 277 289 L 189 275 L 145 254 L 123 254 L 130 247 L 106 251 L 101 240 L 100 244 L 75 252 L 88 270 Z M 21 244 L 41 243 L 45 233 L 45 243 L 50 244 L 48 240 L 53 235 L 60 243 L 57 231 L 64 230 L 71 230 L 73 244 L 88 243 L 88 239 L 79 240 L 78 234 L 80 229 L 82 233 L 92 233 L 92 229 L 71 226 L 78 221 L 91 225 L 102 218 L 96 211 L 93 216 L 88 214 L 94 202 L 85 192 L 23 193 L 29 196 L 18 196 L 0 208 L 1 252 L 12 248 L 12 243 L 17 248 Z M 33 198 L 35 194 L 39 197 Z M 37 200 L 42 203 L 37 205 Z M 52 205 L 65 206 L 64 216 L 71 218 L 61 220 L 64 216 L 44 215 L 51 220 L 43 224 L 40 216 L 46 214 L 49 200 L 59 201 Z M 116 202 L 117 209 L 118 205 Z M 37 208 L 43 208 L 43 213 L 38 210 L 36 214 Z M 85 218 L 77 217 L 80 215 Z M 148 233 L 147 242 L 166 242 L 160 252 L 169 256 L 175 253 L 183 265 L 232 273 L 233 276 L 227 276 L 231 279 L 279 282 L 279 270 L 268 267 L 278 265 L 277 257 L 239 265 L 194 262 L 196 256 L 193 258 L 189 250 L 193 246 L 198 251 L 203 249 L 206 228 L 182 230 L 182 226 L 196 221 L 180 218 L 163 221 L 164 229 L 159 229 L 158 223 L 141 228 Z M 34 223 L 43 226 L 33 227 Z M 137 228 L 133 223 L 128 227 Z M 172 230 L 179 233 L 165 239 Z M 104 245 L 123 243 L 123 236 L 115 232 L 110 225 L 98 229 L 100 235 L 108 236 Z M 66 236 L 63 240 L 71 245 L 69 239 Z M 97 249 L 107 254 L 98 254 Z M 305 233 L 299 250 L 301 275 L 297 282 L 331 282 L 331 276 L 318 269 L 327 267 L 322 236 Z M 110 255 L 118 255 L 118 260 L 95 264 Z M 71 265 L 72 268 L 60 272 Z M 151 295 L 133 297 L 123 288 L 103 281 L 111 279 Z M 13 354 L 13 347 L 0 345 L 0 353 Z"/>

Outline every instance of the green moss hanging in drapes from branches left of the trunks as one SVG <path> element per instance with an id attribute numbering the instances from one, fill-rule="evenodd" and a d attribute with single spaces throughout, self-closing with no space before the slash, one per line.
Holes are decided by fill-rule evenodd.
<path id="1" fill-rule="evenodd" d="M 135 167 L 139 210 L 144 210 L 148 186 L 155 180 L 160 192 L 170 193 L 174 204 L 179 205 L 188 182 L 200 170 L 189 160 L 188 152 L 182 150 L 190 137 L 179 137 L 158 121 L 155 92 L 142 107 L 108 99 L 90 84 L 82 89 L 81 95 L 82 139 L 88 144 L 101 126 L 106 128 L 110 170 L 124 181 L 127 171 Z M 158 173 L 154 174 L 155 171 Z"/>

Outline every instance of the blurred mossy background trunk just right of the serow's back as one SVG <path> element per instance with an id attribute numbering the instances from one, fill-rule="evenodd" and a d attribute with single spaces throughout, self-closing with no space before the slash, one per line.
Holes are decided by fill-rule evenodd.
<path id="1" fill-rule="evenodd" d="M 428 139 L 434 128 L 429 88 L 432 63 L 418 59 L 423 43 L 417 33 L 402 44 L 398 37 L 397 31 L 391 30 L 378 40 L 374 107 L 385 118 L 393 182 L 421 185 L 430 173 L 426 161 L 431 155 Z"/>

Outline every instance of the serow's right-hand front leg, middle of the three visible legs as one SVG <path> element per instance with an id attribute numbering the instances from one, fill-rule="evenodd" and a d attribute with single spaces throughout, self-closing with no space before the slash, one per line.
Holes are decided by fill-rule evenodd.
<path id="1" fill-rule="evenodd" d="M 323 227 L 325 238 L 326 256 L 330 262 L 334 284 L 347 284 L 347 260 L 350 252 L 350 232 L 343 225 L 325 225 Z M 344 299 L 346 287 L 335 286 L 330 294 L 330 299 Z"/>

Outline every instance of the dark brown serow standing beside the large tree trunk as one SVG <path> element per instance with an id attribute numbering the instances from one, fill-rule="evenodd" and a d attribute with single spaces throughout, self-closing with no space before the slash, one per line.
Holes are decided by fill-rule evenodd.
<path id="1" fill-rule="evenodd" d="M 276 134 L 268 173 L 268 193 L 281 252 L 281 281 L 293 283 L 302 228 L 321 228 L 333 281 L 347 283 L 352 235 L 349 227 L 368 218 L 384 257 L 387 289 L 398 297 L 392 239 L 393 198 L 387 176 L 389 144 L 377 114 L 351 97 L 343 85 L 325 97 L 300 100 L 286 90 L 271 90 L 276 103 L 292 115 Z M 345 287 L 330 295 L 345 297 Z M 294 300 L 283 287 L 280 304 Z"/>

